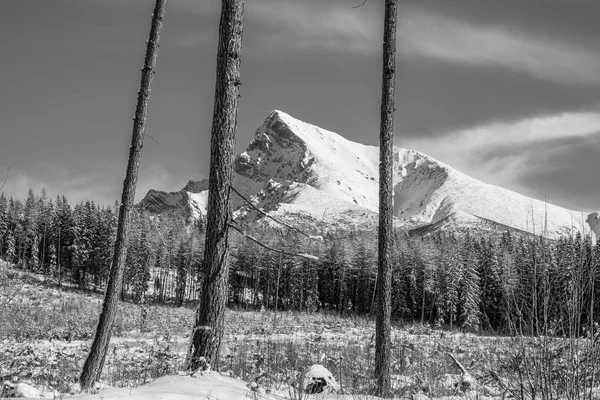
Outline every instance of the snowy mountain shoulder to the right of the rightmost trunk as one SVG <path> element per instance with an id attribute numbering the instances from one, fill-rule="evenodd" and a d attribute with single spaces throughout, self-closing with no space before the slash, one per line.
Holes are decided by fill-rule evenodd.
<path id="1" fill-rule="evenodd" d="M 580 212 L 483 183 L 423 154 L 404 161 L 395 185 L 398 217 L 431 224 L 460 211 L 455 218 L 471 215 L 537 234 L 546 227 L 550 236 L 590 230 Z"/>

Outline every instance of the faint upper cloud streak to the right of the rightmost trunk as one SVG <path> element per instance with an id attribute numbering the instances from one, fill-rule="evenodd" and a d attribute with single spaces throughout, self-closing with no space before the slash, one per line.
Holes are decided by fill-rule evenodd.
<path id="1" fill-rule="evenodd" d="M 506 27 L 404 10 L 398 40 L 407 58 L 499 66 L 560 83 L 600 84 L 597 51 Z"/>

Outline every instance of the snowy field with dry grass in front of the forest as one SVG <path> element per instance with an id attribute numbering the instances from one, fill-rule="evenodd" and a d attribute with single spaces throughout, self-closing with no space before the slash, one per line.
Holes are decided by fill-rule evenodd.
<path id="1" fill-rule="evenodd" d="M 34 278 L 4 271 L 0 397 L 61 398 L 74 393 L 94 332 L 99 295 L 58 290 Z M 298 388 L 304 371 L 317 363 L 331 371 L 339 390 L 310 397 L 367 398 L 372 391 L 375 324 L 369 318 L 228 310 L 220 364 L 213 366 L 220 373 L 189 376 L 182 368 L 192 322 L 191 309 L 121 304 L 102 388 L 75 398 L 309 398 Z M 535 338 L 480 336 L 400 322 L 394 324 L 392 341 L 397 398 L 518 397 L 522 383 L 537 376 L 533 361 L 540 359 L 531 361 L 530 356 L 542 350 L 556 359 L 546 377 L 553 381 L 547 384 L 560 390 L 574 376 L 567 371 L 573 365 L 565 349 L 591 354 L 584 351 L 586 342 L 575 348 L 552 339 L 541 348 L 542 341 Z M 577 368 L 582 368 L 583 359 L 579 361 Z M 578 385 L 577 390 L 588 387 L 585 398 L 598 393 L 592 390 L 593 381 L 586 386 L 582 378 Z"/>

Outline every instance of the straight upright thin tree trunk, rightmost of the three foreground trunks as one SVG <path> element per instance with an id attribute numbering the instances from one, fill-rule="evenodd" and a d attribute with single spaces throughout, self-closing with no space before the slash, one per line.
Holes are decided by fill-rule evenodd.
<path id="1" fill-rule="evenodd" d="M 383 80 L 379 132 L 379 252 L 377 317 L 375 322 L 375 380 L 377 395 L 390 397 L 390 318 L 392 287 L 394 89 L 396 84 L 397 0 L 385 1 Z"/>

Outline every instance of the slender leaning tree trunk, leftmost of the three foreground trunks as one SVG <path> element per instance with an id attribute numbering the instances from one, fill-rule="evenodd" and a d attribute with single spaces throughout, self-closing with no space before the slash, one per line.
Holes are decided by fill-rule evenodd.
<path id="1" fill-rule="evenodd" d="M 123 270 L 127 257 L 127 239 L 129 236 L 130 208 L 133 206 L 135 189 L 137 186 L 142 147 L 146 130 L 146 117 L 148 115 L 148 103 L 150 90 L 156 67 L 160 33 L 162 31 L 167 0 L 156 0 L 152 25 L 146 47 L 146 57 L 142 69 L 142 81 L 138 92 L 137 107 L 133 122 L 133 135 L 131 148 L 129 149 L 129 161 L 127 172 L 123 183 L 123 194 L 119 209 L 119 223 L 117 227 L 117 239 L 115 241 L 115 252 L 112 259 L 108 287 L 104 297 L 102 313 L 96 328 L 96 336 L 90 349 L 83 371 L 79 378 L 83 389 L 89 389 L 100 378 L 104 359 L 110 343 L 111 330 L 117 312 L 117 303 L 123 284 Z"/>

